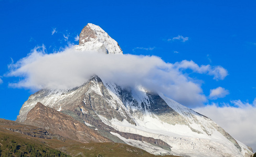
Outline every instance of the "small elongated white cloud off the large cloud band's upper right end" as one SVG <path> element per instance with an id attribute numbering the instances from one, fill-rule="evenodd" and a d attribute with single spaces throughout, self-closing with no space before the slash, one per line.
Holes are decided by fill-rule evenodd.
<path id="1" fill-rule="evenodd" d="M 199 66 L 193 61 L 183 60 L 182 62 L 176 62 L 174 66 L 177 69 L 191 69 L 193 72 L 200 74 L 213 75 L 215 80 L 223 80 L 227 75 L 228 71 L 222 66 L 211 66 L 211 65 L 201 65 Z"/>

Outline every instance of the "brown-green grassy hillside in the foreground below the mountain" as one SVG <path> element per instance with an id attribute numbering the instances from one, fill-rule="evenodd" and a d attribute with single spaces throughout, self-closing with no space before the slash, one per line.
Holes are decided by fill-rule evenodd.
<path id="1" fill-rule="evenodd" d="M 131 145 L 82 143 L 42 128 L 0 119 L 0 156 L 156 156 Z M 172 156 L 172 155 L 167 155 Z"/>

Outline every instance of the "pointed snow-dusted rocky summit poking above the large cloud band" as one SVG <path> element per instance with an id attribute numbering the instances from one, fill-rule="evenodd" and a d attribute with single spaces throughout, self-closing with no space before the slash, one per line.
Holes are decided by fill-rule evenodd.
<path id="1" fill-rule="evenodd" d="M 77 50 L 103 51 L 110 54 L 123 54 L 118 42 L 112 39 L 102 28 L 94 24 L 87 24 L 79 35 Z"/>

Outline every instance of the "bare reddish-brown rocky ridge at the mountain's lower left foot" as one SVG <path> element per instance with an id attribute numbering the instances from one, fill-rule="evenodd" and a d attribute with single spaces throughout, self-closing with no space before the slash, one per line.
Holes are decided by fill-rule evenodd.
<path id="1" fill-rule="evenodd" d="M 56 134 L 60 134 L 65 138 L 84 143 L 110 142 L 110 140 L 102 137 L 95 130 L 90 129 L 81 122 L 74 120 L 71 116 L 46 107 L 41 103 L 37 103 L 36 106 L 29 111 L 24 124 L 41 127 Z"/>

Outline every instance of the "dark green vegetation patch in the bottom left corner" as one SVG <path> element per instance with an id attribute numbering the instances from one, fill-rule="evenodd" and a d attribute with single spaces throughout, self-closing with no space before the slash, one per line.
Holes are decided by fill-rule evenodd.
<path id="1" fill-rule="evenodd" d="M 58 150 L 34 142 L 25 142 L 12 136 L 0 138 L 0 156 L 69 156 Z"/>

